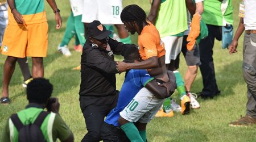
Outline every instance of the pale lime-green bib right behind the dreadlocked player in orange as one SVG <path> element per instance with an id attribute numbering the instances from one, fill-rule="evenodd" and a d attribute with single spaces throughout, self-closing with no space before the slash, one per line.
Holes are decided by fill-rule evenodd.
<path id="1" fill-rule="evenodd" d="M 187 8 L 185 1 L 161 1 L 155 27 L 160 37 L 172 36 L 184 32 L 188 28 Z"/>

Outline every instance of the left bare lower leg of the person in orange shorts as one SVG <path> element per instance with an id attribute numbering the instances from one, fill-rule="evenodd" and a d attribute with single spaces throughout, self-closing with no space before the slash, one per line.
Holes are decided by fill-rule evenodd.
<path id="1" fill-rule="evenodd" d="M 16 64 L 16 57 L 7 56 L 5 64 L 3 65 L 3 90 L 2 98 L 9 97 L 9 83 L 13 76 Z"/>

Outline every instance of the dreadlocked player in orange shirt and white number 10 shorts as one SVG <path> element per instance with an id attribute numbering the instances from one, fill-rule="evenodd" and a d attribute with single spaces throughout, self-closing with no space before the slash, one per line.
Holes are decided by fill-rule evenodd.
<path id="1" fill-rule="evenodd" d="M 131 34 L 138 33 L 139 53 L 143 61 L 118 62 L 119 72 L 147 69 L 150 76 L 155 77 L 159 84 L 168 82 L 164 43 L 160 40 L 158 30 L 148 21 L 144 10 L 137 5 L 126 6 L 121 13 L 121 20 Z M 118 122 L 131 141 L 146 141 L 146 124 L 154 118 L 163 101 L 164 99 L 158 99 L 149 90 L 142 88 L 133 101 L 120 112 Z M 139 122 L 141 126 L 137 129 L 133 122 Z"/>

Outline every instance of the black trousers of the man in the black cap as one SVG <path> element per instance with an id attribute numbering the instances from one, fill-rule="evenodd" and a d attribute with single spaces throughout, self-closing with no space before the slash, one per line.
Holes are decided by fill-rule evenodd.
<path id="1" fill-rule="evenodd" d="M 87 133 L 81 141 L 98 142 L 104 118 L 117 105 L 118 92 L 105 97 L 80 96 L 80 108 L 84 115 Z"/>

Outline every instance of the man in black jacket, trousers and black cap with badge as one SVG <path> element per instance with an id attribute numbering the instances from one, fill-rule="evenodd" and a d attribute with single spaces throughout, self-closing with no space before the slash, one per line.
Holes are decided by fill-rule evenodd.
<path id="1" fill-rule="evenodd" d="M 119 43 L 108 37 L 99 21 L 88 26 L 88 38 L 81 55 L 81 83 L 79 101 L 88 133 L 81 141 L 100 141 L 100 129 L 104 118 L 115 107 L 119 91 L 115 86 L 117 62 L 115 55 L 122 55 L 130 44 Z"/>

